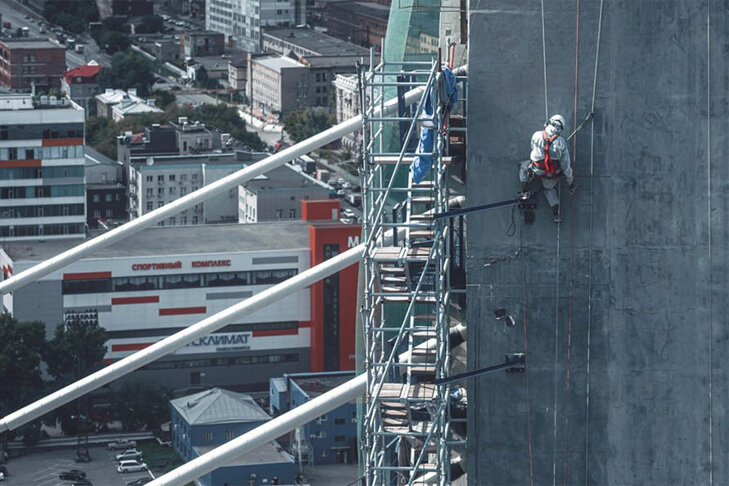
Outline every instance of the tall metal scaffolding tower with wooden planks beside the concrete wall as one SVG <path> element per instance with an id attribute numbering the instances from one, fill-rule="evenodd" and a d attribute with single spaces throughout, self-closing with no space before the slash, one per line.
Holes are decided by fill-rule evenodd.
<path id="1" fill-rule="evenodd" d="M 362 203 L 367 374 L 363 426 L 367 484 L 449 484 L 450 366 L 448 100 L 439 62 L 381 62 L 359 73 L 363 120 Z M 389 91 L 421 88 L 417 108 L 383 116 Z M 425 107 L 432 107 L 426 110 Z M 432 153 L 418 152 L 421 128 Z M 429 175 L 410 167 L 432 156 Z M 388 229 L 393 237 L 382 240 Z M 403 234 L 398 238 L 398 234 Z M 427 344 L 425 344 L 427 343 Z"/>

